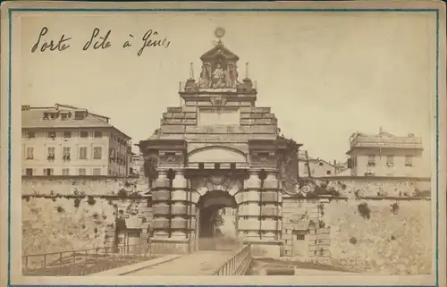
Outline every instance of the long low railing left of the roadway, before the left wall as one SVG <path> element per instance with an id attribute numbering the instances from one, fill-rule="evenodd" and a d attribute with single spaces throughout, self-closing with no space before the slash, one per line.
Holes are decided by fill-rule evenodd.
<path id="1" fill-rule="evenodd" d="M 148 260 L 148 243 L 117 248 L 76 249 L 22 256 L 22 274 L 32 276 L 88 275 Z"/>

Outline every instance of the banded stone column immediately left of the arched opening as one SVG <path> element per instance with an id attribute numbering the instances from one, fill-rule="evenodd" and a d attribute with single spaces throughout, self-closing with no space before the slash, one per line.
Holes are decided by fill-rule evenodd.
<path id="1" fill-rule="evenodd" d="M 171 194 L 171 236 L 173 239 L 184 240 L 189 228 L 188 209 L 188 181 L 184 171 L 176 171 L 173 179 L 173 191 Z"/>

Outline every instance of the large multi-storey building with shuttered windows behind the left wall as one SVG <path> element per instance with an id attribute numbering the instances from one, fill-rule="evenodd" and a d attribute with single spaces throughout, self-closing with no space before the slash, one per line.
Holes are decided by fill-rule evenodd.
<path id="1" fill-rule="evenodd" d="M 126 177 L 130 137 L 85 108 L 21 106 L 22 175 Z"/>

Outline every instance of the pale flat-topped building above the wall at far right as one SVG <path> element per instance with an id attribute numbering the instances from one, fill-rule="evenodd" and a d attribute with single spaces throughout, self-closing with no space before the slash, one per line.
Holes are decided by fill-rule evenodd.
<path id="1" fill-rule="evenodd" d="M 420 176 L 423 169 L 422 139 L 409 134 L 398 137 L 380 130 L 350 136 L 348 164 L 352 176 Z"/>

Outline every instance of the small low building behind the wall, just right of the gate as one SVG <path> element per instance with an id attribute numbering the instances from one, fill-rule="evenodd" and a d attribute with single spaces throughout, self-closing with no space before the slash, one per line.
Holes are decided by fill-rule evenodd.
<path id="1" fill-rule="evenodd" d="M 298 158 L 299 177 L 333 176 L 336 172 L 334 165 L 321 158 L 306 156 L 306 151 L 300 151 Z"/>

